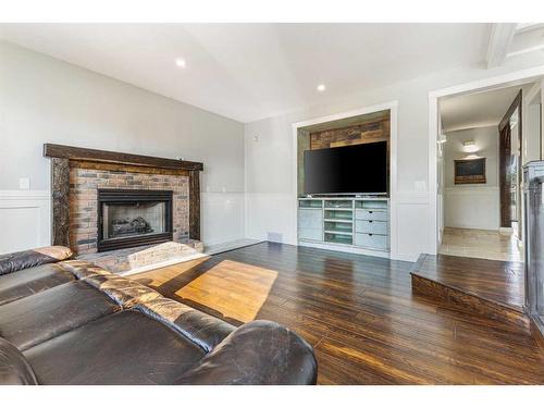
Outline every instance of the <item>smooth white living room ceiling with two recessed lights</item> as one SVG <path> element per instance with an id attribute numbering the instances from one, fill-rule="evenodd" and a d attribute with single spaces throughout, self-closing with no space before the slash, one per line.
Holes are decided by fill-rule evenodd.
<path id="1" fill-rule="evenodd" d="M 490 24 L 0 24 L 0 38 L 251 122 L 481 63 Z M 184 58 L 187 67 L 175 66 Z M 316 90 L 325 84 L 326 90 Z"/>

